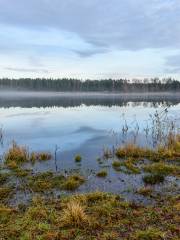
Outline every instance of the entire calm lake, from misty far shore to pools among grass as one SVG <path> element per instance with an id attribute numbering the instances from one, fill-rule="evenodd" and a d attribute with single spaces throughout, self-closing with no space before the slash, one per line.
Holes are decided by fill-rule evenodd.
<path id="1" fill-rule="evenodd" d="M 122 194 L 142 184 L 141 174 L 119 174 L 107 162 L 100 166 L 97 159 L 105 149 L 126 142 L 153 147 L 145 130 L 150 128 L 150 115 L 165 109 L 168 118 L 179 124 L 178 94 L 164 97 L 161 94 L 3 92 L 0 94 L 1 155 L 13 141 L 28 146 L 30 151 L 50 151 L 54 155 L 56 149 L 57 166 L 54 161 L 39 162 L 33 171 L 85 172 L 89 181 L 78 191 L 100 189 Z M 75 163 L 77 154 L 82 156 L 82 163 Z M 109 169 L 106 181 L 92 177 L 101 168 Z M 133 194 L 129 191 L 131 198 Z"/>

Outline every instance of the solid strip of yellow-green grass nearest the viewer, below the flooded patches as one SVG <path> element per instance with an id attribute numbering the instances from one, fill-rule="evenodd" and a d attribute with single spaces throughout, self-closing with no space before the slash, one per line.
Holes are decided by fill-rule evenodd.
<path id="1" fill-rule="evenodd" d="M 38 197 L 22 212 L 0 207 L 2 239 L 177 240 L 179 198 L 155 205 L 128 203 L 119 196 L 89 193 Z"/>

